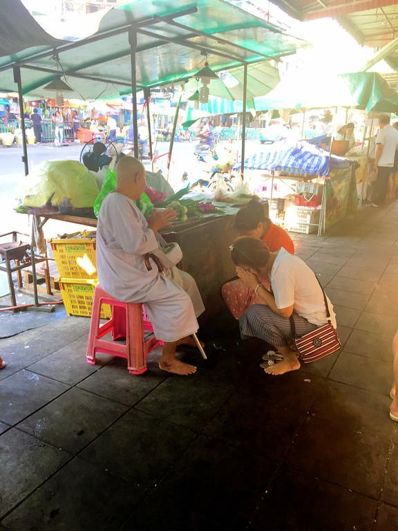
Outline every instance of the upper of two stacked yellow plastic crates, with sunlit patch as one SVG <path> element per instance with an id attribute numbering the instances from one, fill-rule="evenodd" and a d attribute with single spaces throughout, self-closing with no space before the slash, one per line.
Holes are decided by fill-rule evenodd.
<path id="1" fill-rule="evenodd" d="M 50 244 L 61 278 L 97 278 L 95 238 L 51 239 Z"/>

